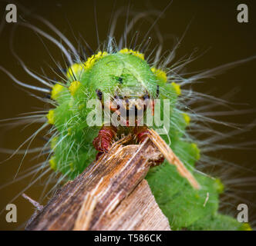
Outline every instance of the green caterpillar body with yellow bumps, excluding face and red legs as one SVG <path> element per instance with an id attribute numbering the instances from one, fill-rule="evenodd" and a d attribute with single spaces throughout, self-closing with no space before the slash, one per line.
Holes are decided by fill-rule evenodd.
<path id="1" fill-rule="evenodd" d="M 34 26 L 29 28 L 39 32 Z M 66 39 L 62 36 L 61 38 L 66 42 Z M 72 45 L 67 44 L 72 50 Z M 61 173 L 63 178 L 74 179 L 96 158 L 97 150 L 93 141 L 106 122 L 103 121 L 102 125 L 89 125 L 88 116 L 98 110 L 88 107 L 89 100 L 101 101 L 106 97 L 113 99 L 116 95 L 119 98 L 147 96 L 151 100 L 168 99 L 170 128 L 161 137 L 193 173 L 201 187 L 200 190 L 192 188 L 167 161 L 150 169 L 147 181 L 161 210 L 170 221 L 170 228 L 251 230 L 249 224 L 240 223 L 230 215 L 218 211 L 219 196 L 224 192 L 224 184 L 218 178 L 200 174 L 195 168 L 201 153 L 197 141 L 187 133 L 187 128 L 197 121 L 197 115 L 193 117 L 182 103 L 184 98 L 180 79 L 183 81 L 183 78 L 174 75 L 164 63 L 159 62 L 159 66 L 152 65 L 147 61 L 146 54 L 126 46 L 117 48 L 111 42 L 107 48 L 87 57 L 85 61 L 76 57 L 76 62 L 73 62 L 69 52 L 61 49 L 69 61 L 69 67 L 65 73 L 66 78 L 56 81 L 55 85 L 52 81 L 45 81 L 44 84 L 48 85 L 50 90 L 24 84 L 16 80 L 5 68 L 0 67 L 19 85 L 49 92 L 53 107 L 47 115 L 40 118 L 45 119 L 42 128 L 51 126 L 51 138 L 46 145 L 51 148 L 47 163 L 54 172 Z M 76 52 L 74 53 L 76 55 Z M 24 64 L 22 66 L 26 68 Z M 164 117 L 162 109 L 161 106 L 160 118 Z M 157 129 L 155 122 L 152 128 Z"/>

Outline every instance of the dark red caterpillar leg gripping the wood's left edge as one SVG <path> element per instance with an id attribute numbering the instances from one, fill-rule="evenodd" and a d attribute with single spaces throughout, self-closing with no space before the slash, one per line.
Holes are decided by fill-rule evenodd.
<path id="1" fill-rule="evenodd" d="M 93 139 L 94 148 L 96 148 L 96 150 L 101 153 L 109 151 L 111 142 L 113 141 L 113 138 L 116 136 L 116 131 L 117 129 L 113 126 L 103 125 L 103 127 L 99 130 L 98 136 Z"/>

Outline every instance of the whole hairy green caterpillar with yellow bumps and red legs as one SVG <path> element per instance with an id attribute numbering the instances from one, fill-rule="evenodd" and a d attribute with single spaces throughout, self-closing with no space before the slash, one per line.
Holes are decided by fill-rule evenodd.
<path id="1" fill-rule="evenodd" d="M 26 13 L 25 10 L 24 12 Z M 114 15 L 112 26 L 120 18 L 120 13 L 117 11 Z M 96 51 L 93 51 L 86 42 L 80 45 L 82 48 L 78 51 L 62 33 L 58 32 L 59 30 L 42 17 L 37 18 L 52 29 L 62 42 L 30 23 L 21 23 L 56 44 L 66 62 L 66 66 L 58 67 L 59 77 L 53 79 L 37 75 L 17 58 L 22 68 L 32 78 L 42 83 L 43 86 L 40 87 L 23 83 L 3 66 L 0 67 L 22 87 L 46 94 L 43 101 L 50 107 L 47 112 L 44 111 L 35 118 L 43 121 L 35 135 L 45 128 L 48 129 L 46 134 L 48 138 L 43 148 L 46 154 L 46 171 L 61 175 L 60 181 L 73 179 L 103 152 L 108 151 L 117 138 L 131 134 L 134 143 L 143 141 L 147 130 L 143 128 L 143 131 L 137 131 L 126 121 L 122 122 L 121 127 L 108 125 L 109 121 L 100 121 L 99 125 L 92 125 L 92 121 L 95 120 L 93 115 L 98 111 L 106 110 L 110 116 L 116 115 L 118 118 L 123 104 L 126 108 L 127 105 L 134 103 L 133 112 L 138 117 L 141 103 L 143 105 L 141 107 L 147 109 L 146 114 L 147 111 L 151 111 L 151 115 L 157 115 L 160 112 L 160 119 L 164 118 L 168 111 L 168 127 L 165 128 L 166 132 L 162 132 L 161 137 L 200 184 L 200 190 L 192 188 L 189 182 L 177 173 L 177 169 L 167 161 L 150 170 L 147 181 L 161 210 L 169 219 L 170 227 L 173 230 L 249 230 L 251 229 L 249 224 L 241 224 L 230 215 L 218 211 L 219 197 L 224 192 L 224 184 L 221 180 L 204 175 L 195 167 L 201 156 L 204 156 L 200 146 L 211 145 L 211 141 L 200 141 L 194 138 L 194 135 L 190 135 L 189 130 L 199 131 L 203 128 L 210 131 L 211 129 L 204 124 L 208 122 L 207 117 L 196 114 L 187 107 L 189 105 L 187 101 L 195 98 L 191 97 L 192 92 L 186 91 L 184 86 L 214 75 L 218 69 L 199 72 L 197 75 L 184 78 L 180 71 L 193 58 L 173 62 L 180 42 L 177 42 L 170 52 L 161 56 L 162 46 L 159 45 L 156 51 L 150 50 L 151 38 L 142 37 L 142 41 L 138 42 L 139 32 L 132 34 L 132 38 L 128 40 L 133 22 L 137 22 L 140 18 L 147 18 L 148 15 L 148 13 L 132 15 L 130 22 L 128 22 L 128 15 L 128 23 L 119 42 L 116 43 L 117 39 L 113 35 L 114 28 L 110 28 L 106 42 L 99 43 Z M 224 68 L 248 62 L 251 59 L 234 62 Z M 108 105 L 104 103 L 106 98 L 110 98 Z M 153 102 L 155 100 L 161 103 L 163 100 L 169 100 L 168 110 L 163 111 L 163 105 L 157 105 L 157 102 Z M 89 106 L 89 101 L 96 101 L 95 108 L 92 105 Z M 100 120 L 103 116 L 104 113 L 100 115 Z M 146 115 L 143 115 L 143 119 L 144 117 Z M 31 120 L 31 118 L 28 119 Z M 122 117 L 118 119 L 122 120 Z M 157 129 L 157 125 L 154 124 L 155 122 L 150 127 Z M 35 138 L 35 135 L 32 135 L 28 141 Z"/>

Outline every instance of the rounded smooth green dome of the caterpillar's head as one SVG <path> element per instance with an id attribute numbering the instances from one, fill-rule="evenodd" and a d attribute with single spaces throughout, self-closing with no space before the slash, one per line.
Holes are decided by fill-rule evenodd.
<path id="1" fill-rule="evenodd" d="M 156 76 L 143 54 L 127 49 L 96 62 L 90 72 L 89 87 L 100 101 L 109 99 L 111 111 L 144 110 L 159 92 Z"/>

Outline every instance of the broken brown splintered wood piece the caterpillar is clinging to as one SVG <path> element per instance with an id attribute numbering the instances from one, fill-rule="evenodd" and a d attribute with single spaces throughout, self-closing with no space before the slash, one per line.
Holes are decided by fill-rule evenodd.
<path id="1" fill-rule="evenodd" d="M 65 184 L 25 229 L 170 230 L 147 181 L 141 182 L 163 155 L 149 139 L 121 142 Z"/>

